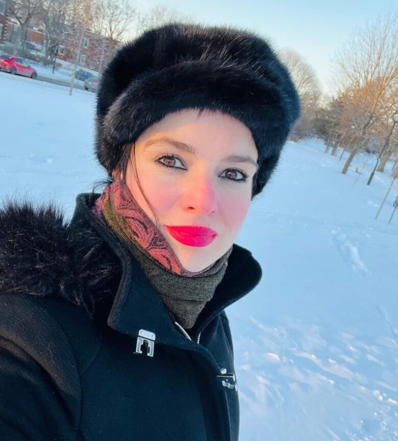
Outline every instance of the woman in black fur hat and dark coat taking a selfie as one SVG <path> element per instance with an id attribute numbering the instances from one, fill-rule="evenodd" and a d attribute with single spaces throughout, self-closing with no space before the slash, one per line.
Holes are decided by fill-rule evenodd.
<path id="1" fill-rule="evenodd" d="M 268 43 L 172 23 L 121 47 L 97 98 L 102 194 L 0 214 L 0 434 L 233 440 L 224 309 L 261 269 L 234 244 L 299 100 Z"/>

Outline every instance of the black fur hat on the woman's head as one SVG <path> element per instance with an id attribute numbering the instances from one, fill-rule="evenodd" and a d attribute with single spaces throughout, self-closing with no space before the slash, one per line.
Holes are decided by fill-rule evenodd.
<path id="1" fill-rule="evenodd" d="M 125 43 L 101 77 L 95 149 L 108 174 L 122 146 L 181 109 L 219 110 L 250 128 L 260 165 L 252 197 L 261 192 L 300 102 L 269 42 L 232 27 L 170 23 Z"/>

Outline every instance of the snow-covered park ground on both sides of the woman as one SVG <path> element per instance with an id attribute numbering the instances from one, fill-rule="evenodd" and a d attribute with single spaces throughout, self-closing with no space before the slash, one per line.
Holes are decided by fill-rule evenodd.
<path id="1" fill-rule="evenodd" d="M 94 95 L 0 72 L 0 200 L 74 197 L 105 177 L 93 159 Z M 237 243 L 263 268 L 228 309 L 241 441 L 398 440 L 398 183 L 347 175 L 316 141 L 288 143 Z"/>

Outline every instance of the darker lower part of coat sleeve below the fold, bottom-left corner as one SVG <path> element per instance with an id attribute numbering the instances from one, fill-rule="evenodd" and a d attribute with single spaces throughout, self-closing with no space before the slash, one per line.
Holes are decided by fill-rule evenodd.
<path id="1" fill-rule="evenodd" d="M 4 338 L 0 338 L 0 433 L 2 441 L 76 438 L 54 379 Z"/>

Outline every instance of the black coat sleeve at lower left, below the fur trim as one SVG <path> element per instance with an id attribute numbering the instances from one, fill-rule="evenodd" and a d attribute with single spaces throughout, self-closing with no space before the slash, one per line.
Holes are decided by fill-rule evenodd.
<path id="1" fill-rule="evenodd" d="M 24 320 L 17 306 L 3 303 L 14 321 L 3 314 L 0 326 L 0 439 L 74 441 L 80 377 L 70 345 L 45 313 L 33 308 Z"/>

